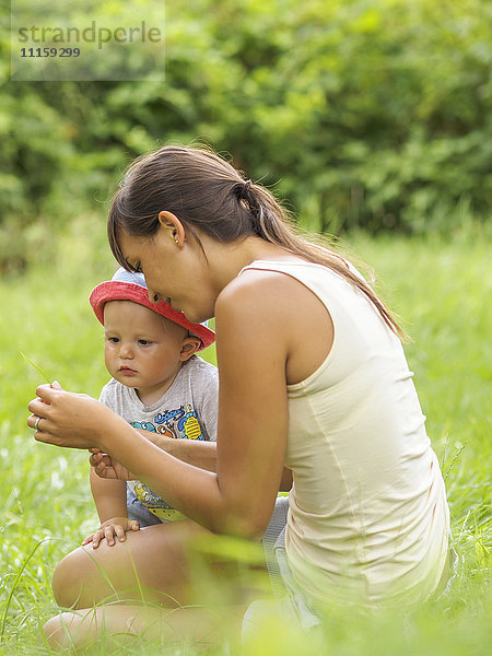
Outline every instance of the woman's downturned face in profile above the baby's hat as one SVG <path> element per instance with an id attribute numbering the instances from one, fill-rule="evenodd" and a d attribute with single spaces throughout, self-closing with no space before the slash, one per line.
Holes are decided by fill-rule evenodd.
<path id="1" fill-rule="evenodd" d="M 153 237 L 134 237 L 121 231 L 118 242 L 128 265 L 145 277 L 150 301 L 165 301 L 189 321 L 199 324 L 213 316 L 216 294 L 199 244 L 192 237 L 177 244 L 176 238 L 179 236 L 161 225 Z"/>

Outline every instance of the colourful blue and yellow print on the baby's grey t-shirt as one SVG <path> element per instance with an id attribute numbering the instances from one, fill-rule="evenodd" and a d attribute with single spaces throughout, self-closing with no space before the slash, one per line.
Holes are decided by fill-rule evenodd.
<path id="1" fill-rule="evenodd" d="M 198 421 L 197 412 L 188 403 L 180 406 L 175 410 L 166 410 L 156 414 L 152 422 L 132 421 L 136 429 L 160 433 L 165 437 L 185 438 L 185 440 L 204 440 L 203 432 Z M 185 515 L 176 511 L 161 496 L 154 494 L 152 490 L 141 481 L 128 481 L 129 488 L 133 491 L 137 499 L 153 515 L 165 522 L 176 522 L 185 519 Z"/>

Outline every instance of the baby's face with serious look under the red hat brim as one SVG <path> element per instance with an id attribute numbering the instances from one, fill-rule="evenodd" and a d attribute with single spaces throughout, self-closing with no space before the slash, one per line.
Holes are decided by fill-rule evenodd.
<path id="1" fill-rule="evenodd" d="M 109 374 L 136 387 L 150 406 L 171 387 L 184 360 L 198 345 L 187 330 L 131 301 L 104 306 L 104 360 Z M 191 353 L 189 352 L 191 348 Z"/>

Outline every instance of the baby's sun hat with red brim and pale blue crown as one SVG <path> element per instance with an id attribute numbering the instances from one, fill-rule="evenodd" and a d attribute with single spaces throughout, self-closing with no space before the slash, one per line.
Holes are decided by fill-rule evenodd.
<path id="1" fill-rule="evenodd" d="M 189 330 L 192 335 L 200 338 L 201 347 L 198 349 L 201 351 L 215 341 L 215 333 L 208 327 L 208 323 L 203 324 L 191 324 L 185 317 L 183 312 L 173 309 L 171 305 L 164 301 L 159 303 L 151 303 L 147 293 L 145 278 L 143 273 L 137 273 L 133 271 L 127 271 L 122 267 L 116 271 L 112 280 L 102 282 L 94 288 L 89 296 L 92 309 L 95 316 L 104 326 L 104 304 L 108 301 L 132 301 L 139 305 L 143 305 L 153 312 L 171 319 L 175 324 L 183 326 Z"/>

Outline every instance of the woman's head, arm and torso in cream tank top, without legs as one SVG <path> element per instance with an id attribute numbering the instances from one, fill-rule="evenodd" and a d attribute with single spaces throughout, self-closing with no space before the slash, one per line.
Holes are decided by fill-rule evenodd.
<path id="1" fill-rule="evenodd" d="M 127 469 L 208 530 L 248 539 L 267 527 L 286 466 L 277 557 L 283 609 L 304 625 L 333 601 L 401 606 L 435 591 L 448 548 L 444 482 L 401 331 L 358 271 L 295 236 L 269 191 L 198 149 L 138 160 L 108 235 L 152 301 L 192 323 L 215 316 L 215 471 L 47 386 L 30 403 L 36 440 L 99 449 L 99 476 Z"/>

